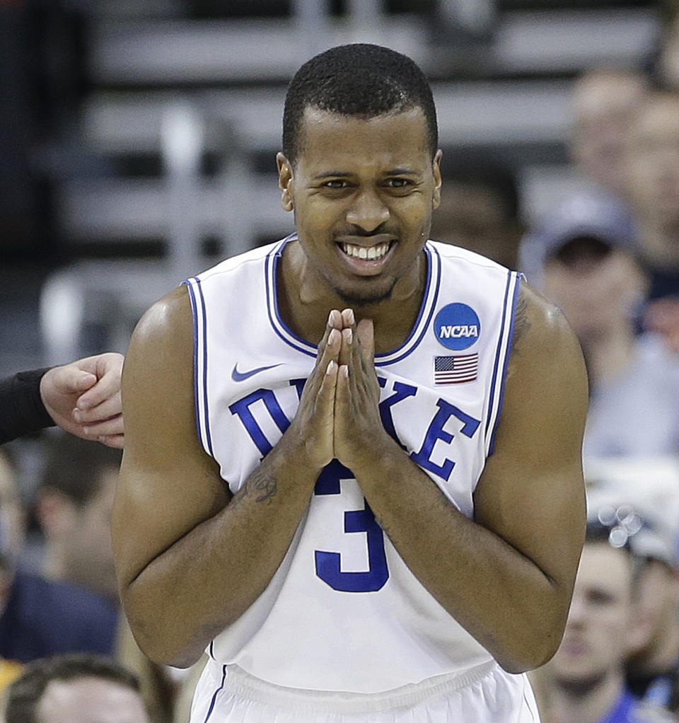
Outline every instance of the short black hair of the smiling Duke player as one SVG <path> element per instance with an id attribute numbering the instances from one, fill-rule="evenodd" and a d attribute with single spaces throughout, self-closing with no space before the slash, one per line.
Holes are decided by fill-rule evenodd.
<path id="1" fill-rule="evenodd" d="M 432 158 L 438 147 L 429 82 L 414 61 L 390 48 L 368 43 L 337 46 L 294 74 L 283 109 L 283 153 L 291 163 L 299 155 L 299 127 L 307 108 L 362 119 L 422 108 Z"/>

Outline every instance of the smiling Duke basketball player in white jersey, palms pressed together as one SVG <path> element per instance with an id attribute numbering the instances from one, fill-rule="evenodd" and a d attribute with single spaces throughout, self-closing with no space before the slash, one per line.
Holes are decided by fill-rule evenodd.
<path id="1" fill-rule="evenodd" d="M 586 381 L 516 273 L 427 241 L 414 63 L 333 48 L 288 90 L 296 234 L 155 304 L 123 380 L 114 554 L 134 635 L 209 655 L 192 723 L 537 721 L 584 536 Z"/>

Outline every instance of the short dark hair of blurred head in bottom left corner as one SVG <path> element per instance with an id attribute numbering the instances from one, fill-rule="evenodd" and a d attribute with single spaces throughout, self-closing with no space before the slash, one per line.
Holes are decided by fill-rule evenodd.
<path id="1" fill-rule="evenodd" d="M 4 709 L 5 723 L 39 723 L 38 703 L 53 680 L 69 681 L 95 677 L 140 692 L 134 673 L 104 656 L 57 655 L 28 663 L 20 677 L 9 685 Z"/>

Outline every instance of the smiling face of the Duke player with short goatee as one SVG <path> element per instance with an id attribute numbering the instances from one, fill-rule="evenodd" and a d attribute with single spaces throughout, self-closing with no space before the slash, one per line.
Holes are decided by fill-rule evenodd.
<path id="1" fill-rule="evenodd" d="M 356 305 L 417 283 L 441 181 L 422 110 L 364 120 L 307 108 L 300 131 L 296 163 L 279 155 L 278 168 L 307 281 Z"/>

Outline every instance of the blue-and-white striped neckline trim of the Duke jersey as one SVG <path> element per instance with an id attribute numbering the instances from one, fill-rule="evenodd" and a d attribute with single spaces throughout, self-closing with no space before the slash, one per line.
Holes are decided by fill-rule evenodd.
<path id="1" fill-rule="evenodd" d="M 291 329 L 288 328 L 285 322 L 281 319 L 281 315 L 278 311 L 278 280 L 277 280 L 277 271 L 278 271 L 278 261 L 281 259 L 283 254 L 283 248 L 288 243 L 288 241 L 296 239 L 296 234 L 290 234 L 290 236 L 286 236 L 283 241 L 281 241 L 280 244 L 267 255 L 265 259 L 265 265 L 264 265 L 264 273 L 265 273 L 265 288 L 266 288 L 266 301 L 267 301 L 267 312 L 269 316 L 269 322 L 271 327 L 273 328 L 276 335 L 278 335 L 279 338 L 281 338 L 286 344 L 291 346 L 292 348 L 296 349 L 297 351 L 301 351 L 302 354 L 307 354 L 307 356 L 315 357 L 318 354 L 318 348 L 317 346 L 313 346 L 303 338 L 296 335 Z M 415 320 L 415 323 L 413 325 L 413 328 L 411 330 L 411 333 L 408 335 L 408 338 L 406 338 L 406 341 L 404 341 L 401 346 L 394 349 L 393 351 L 388 351 L 383 354 L 375 354 L 375 367 L 384 367 L 387 364 L 395 364 L 397 361 L 401 361 L 401 359 L 404 359 L 406 356 L 408 356 L 411 351 L 416 348 L 420 341 L 422 341 L 422 338 L 424 338 L 424 334 L 427 332 L 427 328 L 429 326 L 429 322 L 431 321 L 432 315 L 434 313 L 434 309 L 436 307 L 436 300 L 438 298 L 438 291 L 440 288 L 441 283 L 441 263 L 440 263 L 440 256 L 436 249 L 433 249 L 433 247 L 430 247 L 429 244 L 425 244 L 424 247 L 424 253 L 427 257 L 427 281 L 424 286 L 424 295 L 422 296 L 422 304 L 420 304 L 419 312 L 417 314 L 417 319 Z M 437 257 L 437 275 L 436 275 L 436 288 L 435 292 L 432 296 L 432 299 L 430 299 L 430 289 L 432 287 L 432 251 L 436 254 Z M 422 324 L 422 317 L 424 316 L 424 313 L 426 312 L 427 305 L 430 304 L 430 310 L 429 314 L 427 316 L 427 321 Z M 271 310 L 273 309 L 273 315 Z M 274 316 L 276 317 L 274 319 Z M 417 334 L 417 331 L 419 329 L 419 337 L 417 338 L 414 343 L 411 343 L 414 336 Z M 406 348 L 407 347 L 407 348 Z M 406 351 L 401 354 L 401 356 L 397 356 L 398 353 L 403 349 L 406 348 Z"/>

